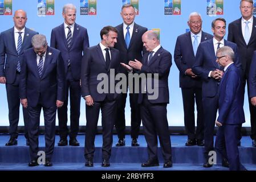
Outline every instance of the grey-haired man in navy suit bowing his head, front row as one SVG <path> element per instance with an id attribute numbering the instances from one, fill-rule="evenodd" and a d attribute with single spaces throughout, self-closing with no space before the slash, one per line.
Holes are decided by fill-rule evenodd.
<path id="1" fill-rule="evenodd" d="M 56 109 L 64 101 L 64 63 L 60 51 L 47 46 L 44 35 L 34 35 L 33 48 L 24 52 L 19 92 L 21 104 L 27 107 L 30 141 L 29 166 L 37 166 L 40 113 L 43 108 L 46 140 L 46 163 L 52 166 L 54 152 Z"/>

